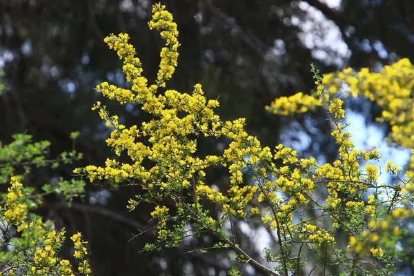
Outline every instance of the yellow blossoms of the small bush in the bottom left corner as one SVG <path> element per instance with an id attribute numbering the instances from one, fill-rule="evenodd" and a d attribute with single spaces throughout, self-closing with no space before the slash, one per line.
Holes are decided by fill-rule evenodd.
<path id="1" fill-rule="evenodd" d="M 25 256 L 20 258 L 26 259 L 25 266 L 21 266 L 19 262 L 19 271 L 26 271 L 25 275 L 63 275 L 75 276 L 72 271 L 70 262 L 66 259 L 57 257 L 57 252 L 60 250 L 65 241 L 65 231 L 56 231 L 50 229 L 50 224 L 43 223 L 41 218 L 29 219 L 28 216 L 28 196 L 22 192 L 23 185 L 17 180 L 17 177 L 11 177 L 11 187 L 8 188 L 6 204 L 1 207 L 1 212 L 7 224 L 17 227 L 20 233 L 20 241 L 16 240 L 14 246 L 17 246 L 17 255 L 24 252 Z M 31 215 L 32 217 L 34 215 Z M 7 226 L 7 227 L 9 227 Z M 14 238 L 12 237 L 12 242 Z M 23 246 L 23 248 L 20 248 Z M 79 248 L 79 241 L 75 242 L 75 253 Z M 86 250 L 83 251 L 81 257 L 85 257 Z M 78 255 L 78 254 L 77 254 Z M 32 257 L 28 257 L 32 256 Z M 76 257 L 76 256 L 75 256 Z M 19 259 L 21 261 L 21 259 Z M 84 268 L 84 269 L 83 269 Z M 15 275 L 17 270 L 10 268 L 9 275 Z M 79 266 L 79 273 L 81 275 L 91 275 L 92 271 L 87 260 Z"/>

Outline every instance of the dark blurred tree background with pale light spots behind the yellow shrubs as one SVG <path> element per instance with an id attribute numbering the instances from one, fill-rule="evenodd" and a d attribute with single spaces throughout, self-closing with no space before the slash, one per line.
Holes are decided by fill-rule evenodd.
<path id="1" fill-rule="evenodd" d="M 166 0 L 179 28 L 179 66 L 169 89 L 188 92 L 195 83 L 206 97 L 219 98 L 217 113 L 224 120 L 247 118 L 247 129 L 263 145 L 293 146 L 301 155 L 335 159 L 335 144 L 326 114 L 277 117 L 264 106 L 275 97 L 310 92 L 315 88 L 310 64 L 321 72 L 352 66 L 378 70 L 401 57 L 413 61 L 414 1 L 349 0 Z M 0 0 L 0 70 L 6 87 L 0 96 L 0 141 L 14 133 L 51 143 L 51 159 L 72 149 L 70 133 L 79 131 L 77 166 L 101 165 L 114 156 L 106 148 L 108 129 L 90 110 L 95 101 L 108 106 L 127 126 L 146 119 L 139 106 L 121 106 L 101 99 L 93 88 L 101 81 L 128 87 L 121 61 L 103 38 L 127 32 L 143 63 L 144 75 L 154 80 L 163 41 L 148 29 L 148 0 Z M 366 124 L 380 112 L 367 101 L 349 106 L 362 112 Z M 199 154 L 214 154 L 226 141 L 199 140 Z M 72 166 L 37 170 L 25 184 L 41 187 L 57 177 L 69 178 Z M 212 184 L 228 186 L 226 171 L 208 174 Z M 3 188 L 2 188 L 3 189 Z M 65 227 L 80 230 L 90 242 L 95 275 L 225 275 L 231 266 L 227 252 L 188 251 L 211 246 L 213 237 L 186 240 L 178 248 L 140 253 L 153 238 L 145 230 L 151 206 L 126 212 L 133 187 L 107 190 L 106 184 L 86 186 L 85 201 L 71 207 L 48 197 L 39 213 Z M 168 204 L 168 203 L 167 203 Z M 171 203 L 170 203 L 171 204 Z M 237 243 L 259 257 L 257 237 L 235 223 Z M 251 225 L 251 228 L 255 226 Z M 260 233 L 260 232 L 257 232 Z M 70 255 L 68 249 L 62 255 Z M 408 250 L 413 256 L 413 250 Z M 405 264 L 402 264 L 404 268 Z M 413 270 L 405 267 L 410 275 Z M 411 271 L 411 272 L 410 272 Z M 137 274 L 141 273 L 141 274 Z M 224 273 L 224 274 L 223 274 Z M 245 275 L 254 275 L 246 269 Z M 256 274 L 259 275 L 259 274 Z"/>

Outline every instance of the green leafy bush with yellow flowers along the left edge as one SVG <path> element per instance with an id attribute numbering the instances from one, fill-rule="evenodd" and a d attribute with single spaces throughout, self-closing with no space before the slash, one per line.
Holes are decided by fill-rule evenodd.
<path id="1" fill-rule="evenodd" d="M 81 241 L 81 235 L 72 236 L 74 257 L 80 262 L 76 272 L 68 260 L 57 255 L 65 242 L 65 230 L 56 230 L 53 221 L 45 221 L 34 213 L 46 195 L 56 194 L 68 204 L 83 196 L 84 181 L 61 178 L 57 184 L 43 185 L 44 193 L 21 184 L 32 169 L 72 164 L 81 159 L 81 154 L 72 150 L 62 152 L 57 159 L 48 159 L 48 141 L 32 143 L 32 137 L 23 134 L 13 138 L 12 143 L 0 145 L 1 185 L 11 184 L 8 193 L 0 193 L 0 274 L 90 275 L 86 243 Z M 17 172 L 21 173 L 16 175 Z"/>

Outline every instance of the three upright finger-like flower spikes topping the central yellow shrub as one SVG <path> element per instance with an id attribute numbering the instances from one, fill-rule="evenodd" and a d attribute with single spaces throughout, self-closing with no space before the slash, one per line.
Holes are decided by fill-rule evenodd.
<path id="1" fill-rule="evenodd" d="M 152 20 L 148 23 L 150 29 L 160 30 L 161 37 L 166 40 L 166 47 L 161 50 L 161 62 L 157 76 L 157 84 L 148 87 L 148 80 L 141 76 L 141 61 L 135 57 L 135 48 L 128 43 L 128 34 L 115 36 L 110 34 L 103 41 L 117 51 L 120 59 L 124 60 L 124 70 L 127 81 L 132 81 L 131 90 L 117 88 L 103 82 L 97 86 L 97 92 L 101 92 L 109 99 L 117 99 L 120 103 L 144 103 L 143 110 L 161 115 L 166 97 L 157 97 L 155 92 L 159 87 L 165 87 L 166 81 L 172 77 L 177 66 L 179 47 L 177 24 L 172 22 L 172 14 L 164 10 L 165 6 L 155 4 L 152 7 Z"/>

